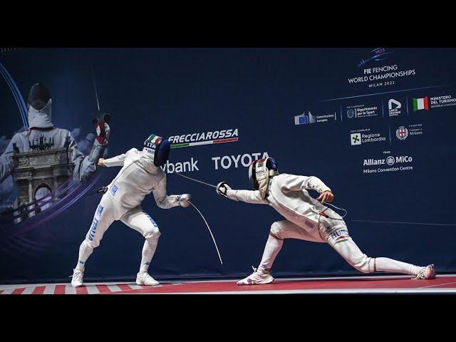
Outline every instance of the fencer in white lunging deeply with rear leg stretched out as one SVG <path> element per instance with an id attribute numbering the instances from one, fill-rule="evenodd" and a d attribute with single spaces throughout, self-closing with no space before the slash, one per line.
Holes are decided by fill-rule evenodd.
<path id="1" fill-rule="evenodd" d="M 249 167 L 249 177 L 255 190 L 232 190 L 226 182 L 217 185 L 217 193 L 255 204 L 269 204 L 285 219 L 271 225 L 263 257 L 254 273 L 237 282 L 238 285 L 269 284 L 274 281 L 271 267 L 284 239 L 326 242 L 338 254 L 363 273 L 374 271 L 410 274 L 416 279 L 434 279 L 435 266 L 415 266 L 385 257 L 372 258 L 361 252 L 348 233 L 346 222 L 334 210 L 323 205 L 333 194 L 320 179 L 311 176 L 279 175 L 274 159 L 257 160 Z M 307 190 L 321 195 L 314 199 Z M 318 202 L 321 200 L 321 202 Z"/>

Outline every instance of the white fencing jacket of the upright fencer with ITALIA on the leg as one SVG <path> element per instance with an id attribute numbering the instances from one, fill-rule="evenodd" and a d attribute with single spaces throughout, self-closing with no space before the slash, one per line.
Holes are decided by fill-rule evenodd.
<path id="1" fill-rule="evenodd" d="M 132 148 L 123 155 L 103 161 L 106 167 L 122 166 L 118 175 L 108 185 L 108 194 L 121 208 L 120 214 L 140 206 L 142 200 L 153 192 L 157 206 L 169 209 L 179 205 L 177 195 L 166 193 L 166 174 L 156 167 L 153 160 Z"/>

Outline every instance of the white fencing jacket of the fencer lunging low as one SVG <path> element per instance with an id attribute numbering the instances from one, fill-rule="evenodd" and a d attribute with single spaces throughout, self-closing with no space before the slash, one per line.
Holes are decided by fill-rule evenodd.
<path id="1" fill-rule="evenodd" d="M 269 182 L 266 199 L 261 199 L 258 190 L 228 190 L 227 197 L 247 203 L 269 204 L 289 221 L 315 234 L 318 234 L 318 222 L 321 222 L 319 212 L 324 211 L 329 217 L 341 219 L 339 214 L 325 207 L 307 192 L 307 189 L 319 193 L 331 191 L 319 178 L 284 173 L 271 178 Z M 330 224 L 335 226 L 343 221 L 325 219 L 325 222 L 331 222 Z"/>

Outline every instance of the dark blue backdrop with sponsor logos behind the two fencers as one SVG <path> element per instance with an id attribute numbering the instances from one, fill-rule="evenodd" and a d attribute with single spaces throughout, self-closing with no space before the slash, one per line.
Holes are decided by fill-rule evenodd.
<path id="1" fill-rule="evenodd" d="M 18 49 L 1 53 L 0 63 L 23 98 L 38 81 L 50 88 L 53 123 L 79 129 L 76 140 L 92 130 L 97 113 L 93 65 L 101 108 L 113 115 L 108 156 L 142 148 L 151 133 L 178 137 L 173 143 L 189 145 L 172 148 L 174 167 L 192 161 L 185 175 L 249 189 L 245 165 L 267 153 L 280 172 L 316 175 L 331 187 L 366 254 L 456 271 L 455 58 L 455 49 L 437 48 L 109 48 Z M 7 142 L 23 124 L 0 81 L 0 142 Z M 217 141 L 215 132 L 223 130 L 232 130 L 231 140 Z M 100 170 L 94 189 L 118 170 Z M 150 273 L 157 279 L 249 274 L 281 216 L 173 173 L 167 180 L 169 194 L 193 195 L 224 265 L 195 210 L 163 210 L 148 196 L 143 208 L 162 232 Z M 83 197 L 20 237 L 46 248 L 0 241 L 0 281 L 68 279 L 99 200 Z M 86 279 L 133 279 L 142 242 L 115 222 L 90 257 Z M 355 271 L 326 244 L 290 239 L 273 272 Z"/>

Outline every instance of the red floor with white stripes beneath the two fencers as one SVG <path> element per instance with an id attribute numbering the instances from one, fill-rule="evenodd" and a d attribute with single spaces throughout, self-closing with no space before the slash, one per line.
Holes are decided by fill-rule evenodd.
<path id="1" fill-rule="evenodd" d="M 456 275 L 415 280 L 408 276 L 275 279 L 266 285 L 237 286 L 234 280 L 0 285 L 0 294 L 456 294 Z"/>

